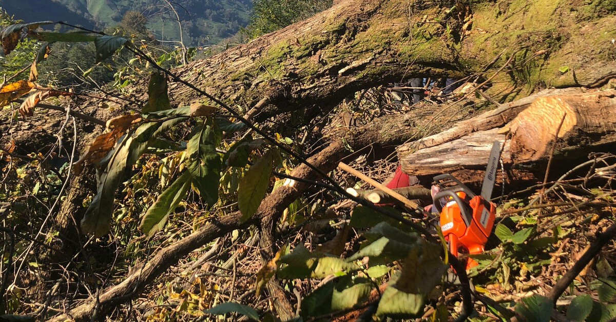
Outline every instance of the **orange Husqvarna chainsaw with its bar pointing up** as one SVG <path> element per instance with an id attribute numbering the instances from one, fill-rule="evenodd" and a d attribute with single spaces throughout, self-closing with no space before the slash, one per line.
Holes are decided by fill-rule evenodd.
<path id="1" fill-rule="evenodd" d="M 490 202 L 500 160 L 500 142 L 492 145 L 484 183 L 479 196 L 453 177 L 442 174 L 434 177 L 441 191 L 432 197 L 434 207 L 440 212 L 440 230 L 449 244 L 453 256 L 480 254 L 488 241 L 496 215 L 496 204 Z M 444 199 L 444 205 L 442 204 Z M 477 265 L 471 258 L 466 269 Z"/>

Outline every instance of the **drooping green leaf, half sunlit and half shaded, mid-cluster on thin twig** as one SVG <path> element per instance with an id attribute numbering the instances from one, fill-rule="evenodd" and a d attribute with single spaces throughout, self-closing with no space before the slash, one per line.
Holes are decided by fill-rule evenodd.
<path id="1" fill-rule="evenodd" d="M 196 126 L 186 146 L 187 168 L 192 183 L 209 207 L 218 201 L 221 182 L 221 156 L 216 152 L 216 129 L 211 119 Z"/>

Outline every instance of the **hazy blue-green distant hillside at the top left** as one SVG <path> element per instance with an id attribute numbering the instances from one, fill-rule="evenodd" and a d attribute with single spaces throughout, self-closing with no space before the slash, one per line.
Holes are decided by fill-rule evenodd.
<path id="1" fill-rule="evenodd" d="M 251 0 L 174 0 L 182 21 L 184 41 L 192 46 L 212 44 L 248 25 Z M 0 0 L 15 18 L 26 21 L 63 20 L 88 28 L 118 24 L 128 11 L 142 12 L 160 40 L 179 39 L 175 15 L 164 0 Z"/>

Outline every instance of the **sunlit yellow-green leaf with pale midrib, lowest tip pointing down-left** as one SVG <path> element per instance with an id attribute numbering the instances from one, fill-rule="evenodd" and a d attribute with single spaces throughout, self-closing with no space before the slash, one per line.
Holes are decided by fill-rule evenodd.
<path id="1" fill-rule="evenodd" d="M 155 203 L 141 220 L 139 228 L 145 235 L 152 237 L 164 227 L 169 215 L 176 210 L 177 205 L 186 195 L 188 187 L 190 187 L 190 174 L 184 172 L 156 198 Z"/>

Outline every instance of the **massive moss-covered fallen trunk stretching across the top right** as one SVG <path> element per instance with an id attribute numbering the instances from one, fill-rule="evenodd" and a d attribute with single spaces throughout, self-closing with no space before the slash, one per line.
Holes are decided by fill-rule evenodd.
<path id="1" fill-rule="evenodd" d="M 481 76 L 502 100 L 600 86 L 616 76 L 616 4 L 573 2 L 341 1 L 176 73 L 256 121 L 287 113 L 296 123 L 356 91 L 421 76 Z M 179 104 L 201 99 L 170 89 Z"/>

